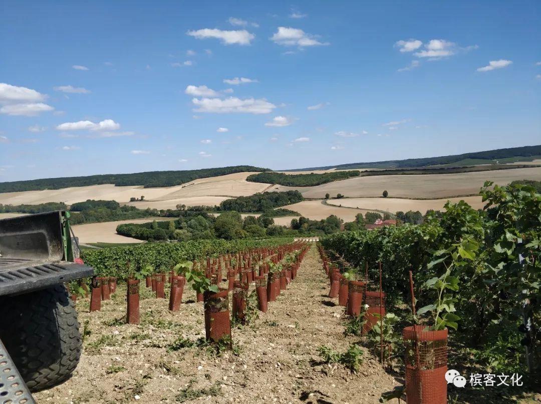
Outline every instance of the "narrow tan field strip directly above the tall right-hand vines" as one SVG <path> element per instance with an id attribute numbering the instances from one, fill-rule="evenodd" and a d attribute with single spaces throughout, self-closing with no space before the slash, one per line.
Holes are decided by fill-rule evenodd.
<path id="1" fill-rule="evenodd" d="M 463 198 L 443 198 L 443 199 L 404 199 L 404 198 L 343 198 L 328 201 L 328 204 L 338 206 L 342 204 L 343 207 L 360 208 L 360 209 L 378 209 L 385 210 L 392 213 L 397 211 L 406 212 L 408 210 L 420 211 L 423 215 L 429 209 L 444 210 L 443 207 L 447 201 L 457 203 L 459 201 L 465 201 L 474 209 L 482 209 L 485 206 L 481 196 L 465 196 Z"/>

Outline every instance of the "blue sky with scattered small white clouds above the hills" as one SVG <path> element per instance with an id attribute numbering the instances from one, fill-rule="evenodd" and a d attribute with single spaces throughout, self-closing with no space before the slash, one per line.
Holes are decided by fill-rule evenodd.
<path id="1" fill-rule="evenodd" d="M 541 2 L 0 0 L 0 181 L 541 143 Z"/>

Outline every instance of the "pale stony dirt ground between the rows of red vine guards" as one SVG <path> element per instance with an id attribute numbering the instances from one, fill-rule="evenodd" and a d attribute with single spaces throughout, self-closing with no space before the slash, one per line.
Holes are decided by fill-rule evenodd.
<path id="1" fill-rule="evenodd" d="M 325 297 L 324 275 L 313 247 L 255 328 L 233 328 L 238 355 L 197 346 L 168 352 L 179 336 L 195 341 L 204 335 L 202 304 L 190 302 L 192 291 L 172 314 L 167 301 L 141 288 L 148 298 L 141 301 L 139 326 L 123 323 L 124 288 L 101 312 L 88 313 L 88 300 L 77 302 L 90 331 L 81 363 L 63 385 L 37 393 L 37 402 L 376 403 L 396 382 L 370 353 L 357 374 L 318 363 L 319 346 L 344 352 L 357 341 L 342 335 L 343 310 Z"/>

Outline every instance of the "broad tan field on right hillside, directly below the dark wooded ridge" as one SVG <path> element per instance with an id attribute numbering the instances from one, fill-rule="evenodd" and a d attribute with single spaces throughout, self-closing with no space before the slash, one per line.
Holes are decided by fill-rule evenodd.
<path id="1" fill-rule="evenodd" d="M 505 185 L 514 180 L 541 180 L 541 167 L 460 174 L 353 177 L 316 187 L 276 186 L 273 190 L 298 189 L 306 198 L 324 198 L 326 193 L 331 196 L 340 193 L 348 197 L 381 196 L 384 190 L 392 197 L 445 198 L 477 194 L 487 180 L 494 181 L 498 185 Z"/>

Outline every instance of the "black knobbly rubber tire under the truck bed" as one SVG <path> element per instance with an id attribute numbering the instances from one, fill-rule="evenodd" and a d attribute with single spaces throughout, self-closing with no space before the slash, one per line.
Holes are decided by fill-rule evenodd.
<path id="1" fill-rule="evenodd" d="M 71 376 L 81 356 L 81 334 L 63 285 L 2 297 L 0 312 L 0 338 L 32 392 Z"/>

